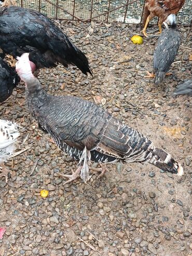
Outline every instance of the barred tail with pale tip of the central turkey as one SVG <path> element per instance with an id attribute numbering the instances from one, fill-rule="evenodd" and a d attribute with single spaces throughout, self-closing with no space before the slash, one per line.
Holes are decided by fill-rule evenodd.
<path id="1" fill-rule="evenodd" d="M 157 166 L 163 171 L 168 171 L 178 176 L 182 176 L 183 167 L 177 163 L 170 154 L 166 153 L 161 149 L 154 149 L 152 152 L 153 156 L 150 158 L 149 163 Z"/>

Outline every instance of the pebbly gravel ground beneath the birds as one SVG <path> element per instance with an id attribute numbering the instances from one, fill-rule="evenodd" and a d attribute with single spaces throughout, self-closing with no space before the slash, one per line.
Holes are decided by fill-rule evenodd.
<path id="1" fill-rule="evenodd" d="M 12 170 L 8 183 L 0 180 L 0 226 L 6 227 L 0 255 L 191 255 L 192 98 L 172 96 L 176 84 L 191 77 L 191 50 L 180 48 L 171 68 L 174 75 L 155 87 L 144 75 L 153 70 L 156 37 L 133 45 L 130 37 L 140 30 L 136 25 L 92 27 L 61 22 L 87 54 L 94 77 L 59 65 L 41 70 L 40 82 L 52 95 L 74 95 L 98 104 L 105 98 L 103 107 L 109 112 L 181 161 L 184 176 L 152 165 L 130 164 L 121 171 L 108 165 L 100 180 L 92 173 L 87 184 L 77 179 L 63 186 L 58 172 L 70 173 L 77 163 L 38 130 L 26 110 L 21 84 L 0 104 L 0 115 L 24 128 L 18 150 L 30 146 L 7 162 Z M 180 31 L 182 45 L 191 47 L 191 32 Z M 49 191 L 46 199 L 39 195 L 43 189 Z"/>

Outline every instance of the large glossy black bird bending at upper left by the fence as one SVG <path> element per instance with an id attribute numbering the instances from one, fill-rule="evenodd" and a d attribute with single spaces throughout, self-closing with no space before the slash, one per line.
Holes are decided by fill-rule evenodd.
<path id="1" fill-rule="evenodd" d="M 9 2 L 9 1 L 6 1 Z M 88 59 L 48 17 L 18 6 L 0 8 L 0 48 L 14 58 L 30 52 L 36 69 L 61 63 L 76 65 L 84 74 L 92 71 Z"/>

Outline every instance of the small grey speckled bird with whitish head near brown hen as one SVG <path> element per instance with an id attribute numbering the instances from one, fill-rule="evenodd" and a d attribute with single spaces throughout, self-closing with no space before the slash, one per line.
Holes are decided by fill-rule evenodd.
<path id="1" fill-rule="evenodd" d="M 167 18 L 167 23 L 170 23 L 171 27 L 168 28 L 167 26 L 167 29 L 165 29 L 162 35 L 159 36 L 154 51 L 154 74 L 147 72 L 148 76 L 146 76 L 155 77 L 155 84 L 161 83 L 166 75 L 171 74 L 167 74 L 167 72 L 173 63 L 181 44 L 181 35 L 179 31 L 176 30 L 175 15 L 170 15 Z"/>

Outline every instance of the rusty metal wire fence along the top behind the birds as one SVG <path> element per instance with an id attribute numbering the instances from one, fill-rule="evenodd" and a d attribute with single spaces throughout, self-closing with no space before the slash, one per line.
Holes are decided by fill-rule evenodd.
<path id="1" fill-rule="evenodd" d="M 17 0 L 17 5 L 61 20 L 124 22 L 142 21 L 145 0 Z M 191 25 L 192 0 L 186 0 L 177 15 L 177 23 Z M 150 23 L 156 23 L 153 19 Z"/>

